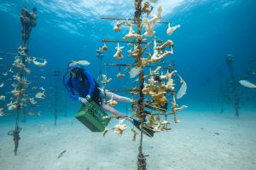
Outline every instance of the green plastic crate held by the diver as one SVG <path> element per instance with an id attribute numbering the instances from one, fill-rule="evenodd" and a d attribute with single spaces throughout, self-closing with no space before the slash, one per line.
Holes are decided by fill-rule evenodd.
<path id="1" fill-rule="evenodd" d="M 86 106 L 82 105 L 75 115 L 79 122 L 83 123 L 93 133 L 104 132 L 105 126 L 108 126 L 110 118 L 105 120 L 102 116 L 108 116 L 108 114 L 99 105 L 96 105 L 94 101 L 91 101 Z"/>

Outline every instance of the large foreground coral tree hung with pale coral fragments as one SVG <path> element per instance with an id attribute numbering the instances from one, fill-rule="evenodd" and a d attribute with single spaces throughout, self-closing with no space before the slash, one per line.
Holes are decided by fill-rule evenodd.
<path id="1" fill-rule="evenodd" d="M 138 82 L 139 82 L 139 87 L 131 88 L 131 89 L 125 89 L 125 90 L 109 90 L 109 92 L 131 92 L 132 94 L 132 100 L 131 100 L 131 111 L 135 111 L 133 115 L 129 116 L 105 116 L 105 118 L 117 118 L 119 119 L 119 124 L 115 126 L 115 133 L 117 133 L 119 136 L 124 133 L 125 129 L 127 128 L 126 125 L 122 125 L 123 120 L 120 120 L 122 117 L 132 117 L 136 116 L 137 118 L 140 119 L 140 146 L 139 146 L 139 153 L 137 156 L 137 169 L 138 170 L 146 170 L 147 169 L 147 163 L 146 163 L 146 156 L 143 155 L 143 125 L 144 123 L 147 122 L 146 116 L 148 116 L 149 120 L 149 126 L 154 126 L 154 132 L 160 133 L 161 131 L 165 131 L 165 125 L 166 124 L 171 124 L 171 122 L 161 122 L 160 119 L 154 120 L 154 116 L 160 117 L 160 115 L 174 115 L 174 122 L 179 122 L 177 121 L 177 111 L 180 111 L 187 106 L 183 105 L 181 108 L 177 108 L 177 104 L 175 101 L 175 95 L 173 93 L 172 95 L 172 113 L 159 113 L 159 114 L 153 114 L 150 111 L 145 111 L 144 110 L 144 105 L 152 105 L 153 101 L 146 101 L 145 96 L 152 97 L 157 105 L 165 105 L 167 101 L 166 97 L 164 94 L 166 94 L 166 90 L 173 91 L 174 90 L 174 84 L 172 80 L 173 73 L 176 71 L 172 71 L 171 68 L 162 68 L 166 69 L 168 71 L 172 72 L 166 72 L 166 75 L 159 75 L 159 70 L 161 67 L 158 66 L 152 66 L 150 65 L 151 63 L 157 63 L 160 61 L 160 59 L 165 58 L 167 55 L 173 54 L 173 42 L 171 40 L 168 40 L 167 42 L 161 43 L 159 47 L 157 47 L 157 43 L 155 41 L 155 38 L 151 42 L 145 42 L 146 38 L 145 37 L 153 37 L 154 36 L 154 26 L 157 23 L 169 23 L 169 22 L 164 22 L 160 21 L 161 19 L 161 5 L 157 8 L 158 13 L 157 15 L 153 13 L 153 19 L 148 20 L 149 14 L 151 14 L 153 7 L 149 9 L 149 3 L 144 3 L 144 6 L 142 6 L 142 0 L 135 0 L 134 5 L 135 5 L 135 13 L 132 19 L 121 19 L 121 18 L 111 18 L 111 17 L 106 17 L 102 18 L 104 20 L 117 20 L 117 27 L 114 28 L 114 31 L 119 31 L 122 26 L 128 26 L 129 28 L 129 33 L 125 35 L 123 38 L 125 41 L 119 41 L 119 40 L 108 40 L 108 39 L 103 39 L 102 42 L 104 42 L 104 48 L 108 50 L 108 46 L 106 45 L 106 42 L 118 42 L 117 44 L 117 53 L 113 56 L 116 59 L 122 59 L 124 56 L 121 56 L 122 51 L 124 51 L 124 47 L 120 49 L 119 44 L 120 43 L 129 43 L 127 45 L 131 46 L 131 50 L 128 51 L 130 54 L 128 57 L 132 57 L 135 59 L 135 61 L 131 65 L 121 65 L 121 64 L 105 64 L 105 65 L 116 65 L 116 66 L 126 66 L 130 71 L 130 77 L 136 77 L 137 75 L 139 76 Z M 141 20 L 141 15 L 142 13 L 146 13 L 147 16 Z M 119 20 L 125 20 L 125 23 L 121 22 L 123 25 L 119 25 Z M 132 30 L 132 26 L 137 25 L 137 33 Z M 142 29 L 145 29 L 146 32 L 142 35 Z M 172 34 L 172 33 L 171 33 Z M 170 34 L 170 35 L 171 35 Z M 169 35 L 169 34 L 168 34 Z M 145 44 L 145 47 L 143 48 L 143 44 Z M 148 55 L 147 59 L 143 58 L 143 53 L 151 44 L 154 44 L 154 54 L 146 53 Z M 133 48 L 133 51 L 132 51 Z M 171 48 L 170 51 L 160 51 L 163 48 Z M 159 54 L 160 52 L 160 54 Z M 117 55 L 119 57 L 117 57 Z M 154 71 L 150 71 L 148 75 L 144 75 L 143 68 L 144 67 L 149 67 L 150 69 L 155 69 Z M 107 74 L 107 72 L 106 72 Z M 109 76 L 109 75 L 108 75 Z M 146 82 L 146 78 L 148 79 L 148 83 Z M 164 79 L 167 79 L 166 82 L 163 82 Z M 106 76 L 104 76 L 104 80 L 106 83 L 109 83 L 111 79 L 107 79 Z M 105 89 L 104 89 L 105 91 Z M 139 99 L 134 99 L 134 96 L 139 94 Z M 107 104 L 107 100 L 105 98 L 105 104 Z M 108 104 L 113 104 L 113 99 L 108 101 Z M 157 123 L 154 123 L 158 121 Z M 160 128 L 160 126 L 163 126 Z M 108 135 L 110 129 L 106 127 L 103 136 Z M 170 130 L 170 129 L 168 129 Z M 135 141 L 135 137 L 137 135 L 136 131 L 134 129 L 131 129 L 133 132 L 133 141 Z"/>

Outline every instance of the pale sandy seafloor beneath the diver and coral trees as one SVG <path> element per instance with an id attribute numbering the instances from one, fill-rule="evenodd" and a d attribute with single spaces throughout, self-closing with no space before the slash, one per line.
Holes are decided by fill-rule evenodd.
<path id="1" fill-rule="evenodd" d="M 152 139 L 143 135 L 143 154 L 149 155 L 147 169 L 256 169 L 256 112 L 241 111 L 239 119 L 234 114 L 182 111 L 177 124 L 169 116 L 172 131 L 155 133 Z M 74 117 L 60 117 L 56 127 L 53 122 L 53 117 L 42 117 L 20 123 L 17 156 L 13 138 L 7 135 L 15 122 L 11 122 L 13 126 L 1 122 L 0 169 L 137 169 L 140 137 L 132 141 L 131 122 L 125 121 L 129 128 L 122 137 L 111 130 L 105 138 L 102 133 L 91 133 Z M 117 122 L 113 119 L 108 127 Z M 38 134 L 40 124 L 45 129 Z M 67 152 L 58 159 L 63 150 Z"/>

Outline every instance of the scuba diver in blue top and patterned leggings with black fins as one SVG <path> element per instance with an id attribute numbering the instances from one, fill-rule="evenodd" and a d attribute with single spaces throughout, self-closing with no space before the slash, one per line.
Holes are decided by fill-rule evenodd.
<path id="1" fill-rule="evenodd" d="M 99 87 L 99 84 L 95 79 L 90 75 L 89 71 L 84 70 L 82 66 L 79 65 L 90 65 L 88 61 L 73 61 L 71 60 L 67 67 L 67 72 L 62 78 L 62 82 L 67 88 L 67 93 L 71 99 L 79 100 L 83 105 L 88 105 L 90 101 L 96 102 L 103 111 L 113 114 L 114 116 L 124 116 L 121 112 L 116 111 L 112 106 L 106 105 L 105 102 L 102 102 L 104 99 L 103 89 Z M 70 77 L 65 80 L 65 76 L 70 72 Z M 74 90 L 79 94 L 74 94 Z M 111 99 L 113 95 L 113 100 L 131 103 L 130 98 L 124 96 L 119 96 L 111 92 L 105 92 L 106 98 Z M 78 96 L 79 95 L 79 96 Z M 139 130 L 141 130 L 141 122 L 131 118 L 125 117 L 126 120 L 134 124 Z M 153 127 L 147 127 L 144 123 L 143 133 L 149 137 L 154 136 Z"/>

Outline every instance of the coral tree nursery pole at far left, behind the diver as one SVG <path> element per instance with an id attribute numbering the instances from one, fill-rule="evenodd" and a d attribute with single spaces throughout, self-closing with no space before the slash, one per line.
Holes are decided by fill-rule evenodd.
<path id="1" fill-rule="evenodd" d="M 0 107 L 8 107 L 9 111 L 12 110 L 16 110 L 16 122 L 15 122 L 15 130 L 13 131 L 9 131 L 9 135 L 13 136 L 14 138 L 14 142 L 15 142 L 15 155 L 17 154 L 17 149 L 18 149 L 18 145 L 19 145 L 19 140 L 20 140 L 20 130 L 22 128 L 19 127 L 19 118 L 20 116 L 25 116 L 25 114 L 23 112 L 20 112 L 23 108 L 25 107 L 30 107 L 30 112 L 28 113 L 28 115 L 33 116 L 33 112 L 32 111 L 32 107 L 40 107 L 40 105 L 36 105 L 38 101 L 36 101 L 34 98 L 30 98 L 29 95 L 35 95 L 35 94 L 27 94 L 26 93 L 26 89 L 27 88 L 32 88 L 31 83 L 34 82 L 38 82 L 38 81 L 28 81 L 26 78 L 26 75 L 31 74 L 31 71 L 43 71 L 43 70 L 37 70 L 37 69 L 29 69 L 26 67 L 27 64 L 32 63 L 34 65 L 38 65 L 38 66 L 44 66 L 46 65 L 47 61 L 45 59 L 41 59 L 44 60 L 44 63 L 40 63 L 38 61 L 36 61 L 35 57 L 31 57 L 28 54 L 28 42 L 29 42 L 29 38 L 32 32 L 32 27 L 37 26 L 36 21 L 38 16 L 35 13 L 37 11 L 36 8 L 33 8 L 33 12 L 29 13 L 29 11 L 27 10 L 27 8 L 24 5 L 24 8 L 20 9 L 20 14 L 22 14 L 20 16 L 20 22 L 21 22 L 21 38 L 23 40 L 23 44 L 20 43 L 20 48 L 18 48 L 18 52 L 19 54 L 13 54 L 16 55 L 15 56 L 15 62 L 13 65 L 0 65 L 3 67 L 9 67 L 11 68 L 9 73 L 14 73 L 13 78 L 0 78 L 0 80 L 4 80 L 4 81 L 11 81 L 14 82 L 13 84 L 11 84 L 11 86 L 13 88 L 15 88 L 13 91 L 11 92 L 1 92 L 1 94 L 12 94 L 12 97 L 10 98 L 10 103 L 8 105 L 0 105 Z M 27 43 L 26 43 L 27 42 Z M 10 54 L 10 53 L 6 53 L 6 52 L 1 52 L 3 54 Z M 17 70 L 13 70 L 12 69 L 18 69 Z M 2 82 L 3 83 L 3 82 Z M 37 89 L 35 87 L 35 85 L 33 85 L 34 87 L 32 89 Z M 3 87 L 2 87 L 3 88 Z M 44 94 L 44 93 L 39 93 L 39 94 Z M 38 99 L 44 99 L 44 97 L 42 95 L 39 95 Z M 26 103 L 28 103 L 30 101 L 30 103 L 32 105 L 26 105 Z M 5 110 L 3 110 L 3 108 L 0 109 L 1 110 L 1 116 L 3 116 L 3 112 L 5 112 Z M 39 114 L 40 115 L 40 114 Z M 6 116 L 12 116 L 12 114 L 6 114 Z M 3 117 L 2 117 L 3 118 Z"/>

